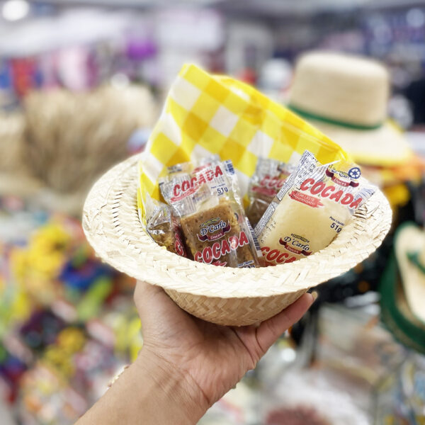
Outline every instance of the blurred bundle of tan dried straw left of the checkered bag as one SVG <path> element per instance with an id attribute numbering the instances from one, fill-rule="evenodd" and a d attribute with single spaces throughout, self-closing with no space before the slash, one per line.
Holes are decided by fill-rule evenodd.
<path id="1" fill-rule="evenodd" d="M 128 156 L 130 135 L 153 125 L 156 111 L 142 86 L 35 91 L 24 101 L 26 163 L 53 191 L 85 194 L 103 171 Z"/>

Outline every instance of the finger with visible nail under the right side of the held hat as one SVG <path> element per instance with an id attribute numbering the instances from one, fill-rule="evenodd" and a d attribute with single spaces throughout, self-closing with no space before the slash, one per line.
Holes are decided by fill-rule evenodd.
<path id="1" fill-rule="evenodd" d="M 256 329 L 256 338 L 263 353 L 266 353 L 286 329 L 301 319 L 313 302 L 314 297 L 311 294 L 304 294 L 285 310 L 261 323 Z"/>

